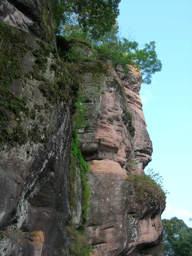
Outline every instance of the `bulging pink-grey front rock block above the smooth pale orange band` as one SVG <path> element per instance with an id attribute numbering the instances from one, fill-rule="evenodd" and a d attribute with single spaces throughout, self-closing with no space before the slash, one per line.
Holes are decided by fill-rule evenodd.
<path id="1" fill-rule="evenodd" d="M 90 125 L 79 133 L 80 148 L 88 161 L 111 159 L 125 168 L 133 154 L 134 120 L 118 75 L 110 66 L 105 68 L 109 75 L 101 75 L 103 95 L 97 95 L 94 87 L 87 86 L 91 83 L 91 73 L 83 76 L 87 86 L 84 91 L 88 108 L 86 122 Z M 90 96 L 92 89 L 94 97 Z"/>

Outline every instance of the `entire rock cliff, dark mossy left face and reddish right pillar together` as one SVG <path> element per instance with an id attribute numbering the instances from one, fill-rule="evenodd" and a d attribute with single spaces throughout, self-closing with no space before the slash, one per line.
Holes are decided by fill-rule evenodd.
<path id="1" fill-rule="evenodd" d="M 92 255 L 163 255 L 165 196 L 138 175 L 152 154 L 141 74 L 97 60 L 80 69 L 63 63 L 44 0 L 3 0 L 0 20 L 0 255 L 80 255 L 77 237 L 86 245 L 76 233 L 86 224 L 85 181 L 71 157 L 79 88 L 87 108 L 78 138 L 90 165 L 85 235 Z"/>

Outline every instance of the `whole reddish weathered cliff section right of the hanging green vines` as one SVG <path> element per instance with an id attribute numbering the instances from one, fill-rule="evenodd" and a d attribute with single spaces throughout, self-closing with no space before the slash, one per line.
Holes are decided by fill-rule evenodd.
<path id="1" fill-rule="evenodd" d="M 94 256 L 142 255 L 142 247 L 161 240 L 165 202 L 162 198 L 139 201 L 133 183 L 126 180 L 127 175 L 144 173 L 152 154 L 139 98 L 141 74 L 133 67 L 124 74 L 119 67 L 120 79 L 113 69 L 103 66 L 106 69 L 107 75 L 100 74 L 98 81 L 104 95 L 91 97 L 90 90 L 95 89 L 88 84 L 95 78 L 90 69 L 83 76 L 90 125 L 79 132 L 79 138 L 91 168 L 86 235 L 96 246 Z"/>

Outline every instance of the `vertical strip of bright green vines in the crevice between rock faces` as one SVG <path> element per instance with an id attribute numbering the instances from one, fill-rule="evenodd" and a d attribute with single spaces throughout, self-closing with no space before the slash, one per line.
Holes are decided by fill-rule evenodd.
<path id="1" fill-rule="evenodd" d="M 82 153 L 79 150 L 79 140 L 78 140 L 78 129 L 83 129 L 85 127 L 84 115 L 87 112 L 85 108 L 82 92 L 79 90 L 77 94 L 77 100 L 75 102 L 76 111 L 72 117 L 72 138 L 71 138 L 71 163 L 70 163 L 70 208 L 73 211 L 75 204 L 75 184 L 77 177 L 77 168 L 80 169 L 80 178 L 81 178 L 81 207 L 82 207 L 82 218 L 83 222 L 78 224 L 78 230 L 76 230 L 71 224 L 67 226 L 67 232 L 72 238 L 72 243 L 70 244 L 70 255 L 75 256 L 89 256 L 90 252 L 94 248 L 92 245 L 87 244 L 85 239 L 85 227 L 87 224 L 88 210 L 90 207 L 90 191 L 89 186 L 86 181 L 86 174 L 89 170 L 88 163 L 83 159 Z M 78 190 L 79 193 L 79 190 Z"/>

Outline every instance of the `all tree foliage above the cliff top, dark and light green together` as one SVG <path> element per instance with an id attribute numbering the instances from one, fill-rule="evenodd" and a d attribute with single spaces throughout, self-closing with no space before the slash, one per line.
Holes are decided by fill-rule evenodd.
<path id="1" fill-rule="evenodd" d="M 143 46 L 132 38 L 121 37 L 116 18 L 120 0 L 48 0 L 56 27 L 57 42 L 70 38 L 91 43 L 97 58 L 112 60 L 114 67 L 121 65 L 124 72 L 128 66 L 141 71 L 143 83 L 150 84 L 152 74 L 161 71 L 154 41 Z M 67 45 L 67 41 L 66 45 Z M 61 45 L 59 46 L 61 49 Z M 63 60 L 73 61 L 68 46 L 61 50 Z M 64 56 L 65 55 L 65 56 Z M 70 55 L 70 58 L 68 58 Z"/>

